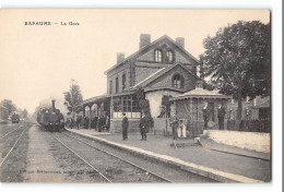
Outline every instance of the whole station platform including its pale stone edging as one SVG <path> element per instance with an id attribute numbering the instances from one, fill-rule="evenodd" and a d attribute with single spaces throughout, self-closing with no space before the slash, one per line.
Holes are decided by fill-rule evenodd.
<path id="1" fill-rule="evenodd" d="M 197 145 L 196 141 L 173 143 L 171 137 L 147 134 L 147 141 L 140 141 L 138 132 L 130 132 L 127 141 L 121 134 L 96 132 L 94 130 L 67 129 L 72 133 L 128 151 L 137 155 L 159 160 L 180 169 L 205 176 L 220 182 L 269 182 L 271 180 L 270 159 L 257 152 L 247 152 L 211 143 Z M 174 145 L 173 145 L 174 144 Z M 179 147 L 181 146 L 181 147 Z M 218 149 L 216 149 L 218 148 Z M 222 151 L 220 149 L 222 148 Z"/>

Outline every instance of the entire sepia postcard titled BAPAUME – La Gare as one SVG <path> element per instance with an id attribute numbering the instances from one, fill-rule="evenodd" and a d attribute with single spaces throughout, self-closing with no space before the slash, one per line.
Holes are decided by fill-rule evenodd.
<path id="1" fill-rule="evenodd" d="M 0 28 L 2 183 L 271 183 L 270 10 L 2 9 Z"/>

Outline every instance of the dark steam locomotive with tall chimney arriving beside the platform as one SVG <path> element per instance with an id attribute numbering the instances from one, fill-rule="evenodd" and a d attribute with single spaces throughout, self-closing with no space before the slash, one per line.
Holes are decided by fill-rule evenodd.
<path id="1" fill-rule="evenodd" d="M 64 128 L 64 117 L 56 109 L 56 100 L 51 100 L 51 108 L 40 108 L 37 112 L 37 122 L 46 130 L 54 132 Z"/>

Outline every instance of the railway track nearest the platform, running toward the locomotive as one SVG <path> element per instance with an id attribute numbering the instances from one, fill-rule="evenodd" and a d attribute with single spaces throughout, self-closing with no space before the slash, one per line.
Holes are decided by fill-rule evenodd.
<path id="1" fill-rule="evenodd" d="M 61 141 L 58 137 L 55 139 L 78 158 L 80 158 L 84 164 L 91 167 L 95 172 L 97 172 L 104 182 L 174 182 L 85 141 L 66 133 L 61 134 L 72 140 Z M 67 143 L 69 143 L 69 146 Z M 79 146 L 79 143 L 81 144 L 81 147 Z M 87 147 L 90 151 L 85 151 Z"/>

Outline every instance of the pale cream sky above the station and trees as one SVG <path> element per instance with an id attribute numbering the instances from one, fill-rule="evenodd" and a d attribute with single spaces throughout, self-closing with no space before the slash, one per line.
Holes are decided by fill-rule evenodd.
<path id="1" fill-rule="evenodd" d="M 62 98 L 74 79 L 83 98 L 106 93 L 104 72 L 139 49 L 140 34 L 151 40 L 185 37 L 197 59 L 202 41 L 237 21 L 270 21 L 268 10 L 0 10 L 0 100 L 12 99 L 28 112 Z M 31 26 L 25 22 L 51 22 Z M 67 23 L 67 25 L 61 25 Z M 69 25 L 69 22 L 79 25 Z M 58 24 L 55 24 L 58 23 Z"/>

